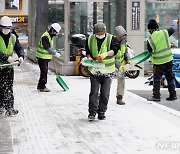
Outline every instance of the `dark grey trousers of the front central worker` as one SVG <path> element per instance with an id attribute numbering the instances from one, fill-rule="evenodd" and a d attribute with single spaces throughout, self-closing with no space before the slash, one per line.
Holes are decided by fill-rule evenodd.
<path id="1" fill-rule="evenodd" d="M 91 90 L 89 94 L 89 112 L 106 112 L 111 87 L 111 77 L 90 77 Z M 100 92 L 100 93 L 99 93 Z"/>

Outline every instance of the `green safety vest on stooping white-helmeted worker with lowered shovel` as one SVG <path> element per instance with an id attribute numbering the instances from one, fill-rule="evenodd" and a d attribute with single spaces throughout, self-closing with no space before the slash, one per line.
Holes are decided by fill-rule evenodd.
<path id="1" fill-rule="evenodd" d="M 52 59 L 52 54 L 50 54 L 46 49 L 44 49 L 42 45 L 42 37 L 47 36 L 50 43 L 50 48 L 53 48 L 53 39 L 49 35 L 49 33 L 46 31 L 42 36 L 38 44 L 36 57 L 42 58 L 42 59 Z"/>

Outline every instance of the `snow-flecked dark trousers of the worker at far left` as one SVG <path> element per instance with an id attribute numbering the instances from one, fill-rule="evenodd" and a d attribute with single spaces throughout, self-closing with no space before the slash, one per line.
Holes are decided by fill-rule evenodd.
<path id="1" fill-rule="evenodd" d="M 0 107 L 5 109 L 14 106 L 13 81 L 14 69 L 0 68 Z"/>

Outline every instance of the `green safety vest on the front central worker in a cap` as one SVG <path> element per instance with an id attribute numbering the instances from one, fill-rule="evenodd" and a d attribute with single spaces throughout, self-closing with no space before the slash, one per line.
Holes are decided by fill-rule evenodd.
<path id="1" fill-rule="evenodd" d="M 99 54 L 105 53 L 110 50 L 111 40 L 112 40 L 112 35 L 106 33 L 106 38 L 104 39 L 100 51 L 98 52 L 96 35 L 94 34 L 88 37 L 88 47 L 94 59 L 97 59 Z M 105 68 L 99 70 L 101 73 L 112 73 L 115 71 L 114 56 L 107 56 L 105 59 L 103 59 L 102 63 L 105 64 Z M 88 69 L 91 71 L 92 67 L 88 67 Z"/>

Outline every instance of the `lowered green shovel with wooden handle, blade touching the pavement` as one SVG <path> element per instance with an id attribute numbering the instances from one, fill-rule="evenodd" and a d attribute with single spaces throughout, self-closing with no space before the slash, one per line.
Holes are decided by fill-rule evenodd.
<path id="1" fill-rule="evenodd" d="M 58 71 L 57 71 L 56 62 L 55 62 L 54 57 L 53 57 L 53 64 L 54 64 L 54 69 L 55 69 L 55 73 L 56 73 L 56 81 L 57 81 L 57 83 L 64 89 L 64 91 L 69 90 L 69 87 L 66 85 L 64 80 L 61 78 L 60 75 L 58 75 Z"/>

